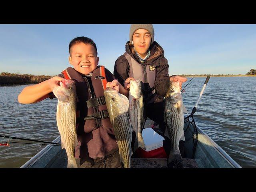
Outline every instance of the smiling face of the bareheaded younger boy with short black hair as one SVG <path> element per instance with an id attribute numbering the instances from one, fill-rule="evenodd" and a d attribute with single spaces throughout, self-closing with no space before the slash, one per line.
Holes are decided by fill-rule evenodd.
<path id="1" fill-rule="evenodd" d="M 76 43 L 70 48 L 70 57 L 68 58 L 74 69 L 84 75 L 92 73 L 98 65 L 99 58 L 96 55 L 94 46 Z"/>

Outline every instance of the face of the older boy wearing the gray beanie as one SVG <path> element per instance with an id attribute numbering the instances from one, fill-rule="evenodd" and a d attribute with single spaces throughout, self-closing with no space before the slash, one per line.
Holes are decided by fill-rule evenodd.
<path id="1" fill-rule="evenodd" d="M 146 29 L 138 29 L 132 36 L 134 48 L 143 58 L 148 53 L 150 47 L 151 35 Z"/>

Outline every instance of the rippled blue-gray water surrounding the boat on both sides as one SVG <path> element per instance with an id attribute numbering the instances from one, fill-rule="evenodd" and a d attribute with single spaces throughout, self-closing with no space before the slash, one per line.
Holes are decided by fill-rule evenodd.
<path id="1" fill-rule="evenodd" d="M 188 111 L 196 103 L 205 79 L 194 78 L 182 94 Z M 58 100 L 48 98 L 36 104 L 20 104 L 18 94 L 25 86 L 28 85 L 0 86 L 0 135 L 54 140 L 59 135 Z M 194 115 L 197 125 L 243 168 L 256 167 L 255 88 L 256 77 L 211 77 Z M 0 168 L 18 168 L 44 147 L 10 145 L 11 148 L 0 146 Z"/>

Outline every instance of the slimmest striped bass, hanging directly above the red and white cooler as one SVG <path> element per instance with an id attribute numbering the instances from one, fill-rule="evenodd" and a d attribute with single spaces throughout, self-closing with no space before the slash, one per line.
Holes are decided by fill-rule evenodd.
<path id="1" fill-rule="evenodd" d="M 130 91 L 129 91 L 129 117 L 132 124 L 132 128 L 136 132 L 134 151 L 139 147 L 145 148 L 144 140 L 142 138 L 142 129 L 144 127 L 144 116 L 143 116 L 143 96 L 140 80 L 130 81 Z"/>

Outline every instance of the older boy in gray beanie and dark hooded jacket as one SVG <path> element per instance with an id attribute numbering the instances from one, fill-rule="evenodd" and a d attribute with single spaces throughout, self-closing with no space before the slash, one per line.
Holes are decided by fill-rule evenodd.
<path id="1" fill-rule="evenodd" d="M 168 156 L 170 139 L 164 134 L 163 97 L 166 95 L 170 81 L 179 81 L 181 88 L 187 78 L 169 76 L 169 65 L 164 57 L 163 48 L 154 41 L 152 24 L 132 24 L 129 38 L 126 52 L 115 62 L 114 76 L 125 89 L 130 87 L 131 79 L 142 81 L 145 116 L 159 124 L 160 130 L 156 131 L 165 138 L 163 145 Z"/>

